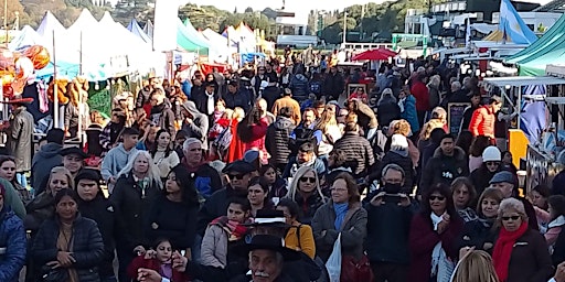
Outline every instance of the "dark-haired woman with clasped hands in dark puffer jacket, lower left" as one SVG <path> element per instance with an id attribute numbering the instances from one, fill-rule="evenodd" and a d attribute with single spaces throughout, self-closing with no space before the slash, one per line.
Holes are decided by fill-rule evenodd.
<path id="1" fill-rule="evenodd" d="M 72 189 L 55 194 L 55 217 L 43 224 L 32 247 L 32 258 L 50 279 L 66 282 L 97 282 L 104 242 L 96 221 L 78 213 Z M 51 280 L 50 280 L 51 281 Z"/>

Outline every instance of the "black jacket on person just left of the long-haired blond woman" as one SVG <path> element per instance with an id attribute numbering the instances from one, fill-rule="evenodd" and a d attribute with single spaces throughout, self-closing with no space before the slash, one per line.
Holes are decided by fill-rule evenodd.
<path id="1" fill-rule="evenodd" d="M 116 238 L 120 236 L 118 232 L 118 220 L 114 205 L 102 194 L 89 202 L 78 199 L 78 210 L 85 218 L 93 219 L 98 225 L 102 239 L 104 240 L 104 257 L 99 265 L 100 279 L 114 275 L 114 251 L 116 249 Z"/>

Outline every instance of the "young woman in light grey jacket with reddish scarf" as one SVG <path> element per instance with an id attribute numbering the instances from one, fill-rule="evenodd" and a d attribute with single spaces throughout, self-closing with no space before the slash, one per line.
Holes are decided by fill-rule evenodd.
<path id="1" fill-rule="evenodd" d="M 227 205 L 227 216 L 210 223 L 201 248 L 201 264 L 225 269 L 227 247 L 245 239 L 247 227 L 242 224 L 249 219 L 250 205 L 246 198 L 232 198 Z"/>

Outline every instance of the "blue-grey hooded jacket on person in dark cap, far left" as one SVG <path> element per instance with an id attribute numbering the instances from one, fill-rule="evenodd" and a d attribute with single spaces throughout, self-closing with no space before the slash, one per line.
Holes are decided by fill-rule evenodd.
<path id="1" fill-rule="evenodd" d="M 40 151 L 33 155 L 31 184 L 35 189 L 35 195 L 39 195 L 44 188 L 41 187 L 41 183 L 47 177 L 51 169 L 63 164 L 63 156 L 58 154 L 61 149 L 63 149 L 63 145 L 51 142 L 42 145 Z"/>

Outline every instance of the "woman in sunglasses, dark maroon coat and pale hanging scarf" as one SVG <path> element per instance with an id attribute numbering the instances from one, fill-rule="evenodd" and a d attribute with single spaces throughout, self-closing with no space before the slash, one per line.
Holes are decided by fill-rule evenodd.
<path id="1" fill-rule="evenodd" d="M 454 242 L 462 227 L 449 186 L 433 185 L 424 196 L 420 213 L 412 220 L 408 281 L 449 281 L 458 256 Z"/>

